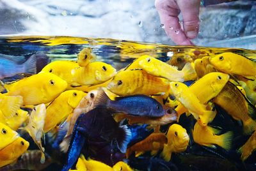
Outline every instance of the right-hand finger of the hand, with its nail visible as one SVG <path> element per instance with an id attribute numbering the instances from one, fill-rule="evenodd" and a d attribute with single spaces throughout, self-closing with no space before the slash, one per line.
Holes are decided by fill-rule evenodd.
<path id="1" fill-rule="evenodd" d="M 196 38 L 199 30 L 200 0 L 178 0 L 183 18 L 184 33 L 189 39 Z"/>

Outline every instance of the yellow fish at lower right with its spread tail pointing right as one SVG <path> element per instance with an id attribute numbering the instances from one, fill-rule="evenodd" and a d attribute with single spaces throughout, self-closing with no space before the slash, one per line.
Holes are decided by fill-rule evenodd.
<path id="1" fill-rule="evenodd" d="M 196 123 L 193 130 L 193 139 L 197 144 L 205 145 L 207 147 L 214 147 L 214 144 L 219 145 L 223 149 L 229 150 L 232 144 L 233 133 L 218 135 L 220 130 L 211 128 L 210 126 L 200 126 Z"/>

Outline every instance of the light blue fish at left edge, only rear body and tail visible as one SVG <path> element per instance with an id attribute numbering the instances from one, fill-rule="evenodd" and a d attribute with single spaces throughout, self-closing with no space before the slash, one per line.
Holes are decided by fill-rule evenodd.
<path id="1" fill-rule="evenodd" d="M 0 80 L 19 73 L 36 73 L 36 57 L 31 56 L 26 62 L 20 64 L 23 60 L 23 57 L 0 55 Z"/>

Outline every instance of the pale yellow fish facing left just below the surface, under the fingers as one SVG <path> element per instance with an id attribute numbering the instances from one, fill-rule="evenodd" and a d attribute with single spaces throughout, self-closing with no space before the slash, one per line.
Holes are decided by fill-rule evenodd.
<path id="1" fill-rule="evenodd" d="M 147 73 L 150 73 L 157 77 L 163 77 L 170 81 L 184 82 L 186 80 L 195 80 L 196 72 L 191 66 L 191 63 L 186 63 L 181 71 L 176 66 L 164 63 L 159 59 L 150 56 L 143 56 L 144 59 L 140 59 L 139 65 Z M 138 59 L 139 60 L 139 59 Z"/>

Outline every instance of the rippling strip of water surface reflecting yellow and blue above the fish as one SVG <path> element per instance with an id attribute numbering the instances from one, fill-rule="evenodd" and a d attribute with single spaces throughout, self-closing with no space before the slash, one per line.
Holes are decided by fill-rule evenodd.
<path id="1" fill-rule="evenodd" d="M 20 36 L 0 38 L 0 54 L 29 57 L 37 52 L 43 52 L 50 57 L 51 61 L 76 61 L 77 54 L 84 47 L 93 48 L 93 53 L 96 54 L 98 61 L 109 63 L 115 67 L 116 70 L 124 68 L 134 59 L 142 55 L 150 55 L 157 57 L 161 61 L 168 61 L 172 58 L 175 59 L 175 57 L 178 57 L 177 59 L 179 59 L 179 57 L 191 57 L 192 59 L 196 59 L 198 57 L 212 56 L 223 52 L 235 52 L 249 57 L 250 59 L 256 59 L 255 50 L 242 48 L 170 46 L 126 40 L 66 36 Z M 186 119 L 183 121 L 185 123 L 187 122 Z M 37 147 L 35 147 L 35 149 L 37 149 Z M 58 169 L 60 169 L 60 167 L 57 167 L 57 170 Z"/>

